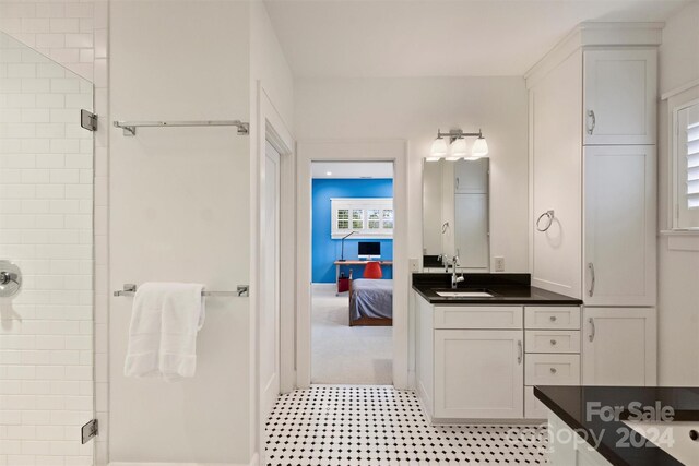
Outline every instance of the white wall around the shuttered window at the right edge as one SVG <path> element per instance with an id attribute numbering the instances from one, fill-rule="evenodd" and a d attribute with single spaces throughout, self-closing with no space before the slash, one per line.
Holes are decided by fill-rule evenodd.
<path id="1" fill-rule="evenodd" d="M 660 48 L 660 92 L 671 92 L 699 80 L 699 2 L 667 20 Z M 695 88 L 695 93 L 697 89 Z M 671 205 L 667 100 L 659 118 L 659 224 L 667 229 Z M 676 238 L 676 237 L 675 237 Z M 699 248 L 699 237 L 685 238 Z M 659 382 L 662 385 L 699 385 L 699 250 L 673 250 L 673 237 L 659 244 Z"/>

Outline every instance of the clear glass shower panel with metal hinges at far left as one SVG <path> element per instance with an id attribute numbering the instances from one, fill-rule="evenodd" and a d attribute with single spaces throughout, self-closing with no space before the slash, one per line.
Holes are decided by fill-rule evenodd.
<path id="1" fill-rule="evenodd" d="M 0 466 L 92 465 L 93 85 L 0 33 Z"/>

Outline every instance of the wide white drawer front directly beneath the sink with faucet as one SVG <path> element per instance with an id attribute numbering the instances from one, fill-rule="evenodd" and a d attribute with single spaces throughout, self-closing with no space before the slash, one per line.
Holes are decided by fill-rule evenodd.
<path id="1" fill-rule="evenodd" d="M 519 330 L 521 306 L 436 306 L 435 328 Z"/>

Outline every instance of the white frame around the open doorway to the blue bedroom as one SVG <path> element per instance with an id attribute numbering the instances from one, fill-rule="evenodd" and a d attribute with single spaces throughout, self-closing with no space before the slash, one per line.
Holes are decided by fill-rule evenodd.
<path id="1" fill-rule="evenodd" d="M 306 141 L 297 145 L 296 384 L 310 386 L 311 162 L 393 163 L 393 385 L 408 389 L 407 142 Z"/>

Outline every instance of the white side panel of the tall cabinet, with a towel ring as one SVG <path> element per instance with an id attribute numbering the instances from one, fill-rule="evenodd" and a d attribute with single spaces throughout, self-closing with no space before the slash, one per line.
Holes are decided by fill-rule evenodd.
<path id="1" fill-rule="evenodd" d="M 576 52 L 530 91 L 531 215 L 545 229 L 533 228 L 532 286 L 573 298 L 582 289 L 581 88 Z"/>

